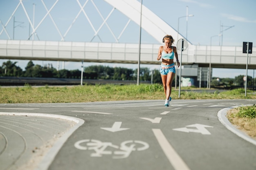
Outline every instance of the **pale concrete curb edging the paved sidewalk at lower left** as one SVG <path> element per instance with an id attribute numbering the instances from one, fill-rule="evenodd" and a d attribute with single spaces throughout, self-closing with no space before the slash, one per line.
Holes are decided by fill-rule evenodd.
<path id="1" fill-rule="evenodd" d="M 47 170 L 57 155 L 58 151 L 61 149 L 65 141 L 72 135 L 72 133 L 78 129 L 81 125 L 84 124 L 84 120 L 76 117 L 70 117 L 65 115 L 54 115 L 54 114 L 43 114 L 43 113 L 17 113 L 17 112 L 0 112 L 0 115 L 24 115 L 24 116 L 38 116 L 38 117 L 51 117 L 51 118 L 60 118 L 69 121 L 74 121 L 76 124 L 70 128 L 65 134 L 58 139 L 54 146 L 45 154 L 43 160 L 38 164 L 36 170 Z"/>

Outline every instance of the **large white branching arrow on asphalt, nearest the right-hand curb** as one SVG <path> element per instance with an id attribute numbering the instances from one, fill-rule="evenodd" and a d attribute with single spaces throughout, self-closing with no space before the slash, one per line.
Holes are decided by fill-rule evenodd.
<path id="1" fill-rule="evenodd" d="M 186 127 L 195 127 L 197 129 L 190 129 Z M 181 132 L 195 132 L 195 133 L 202 133 L 202 135 L 211 135 L 211 133 L 206 129 L 206 128 L 213 128 L 213 126 L 208 126 L 208 125 L 202 125 L 202 124 L 193 124 L 193 125 L 188 125 L 185 128 L 176 128 L 173 130 L 181 131 Z"/>

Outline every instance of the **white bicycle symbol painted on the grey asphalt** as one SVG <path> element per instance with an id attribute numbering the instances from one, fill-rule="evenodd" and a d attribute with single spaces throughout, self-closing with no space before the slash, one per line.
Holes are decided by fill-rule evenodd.
<path id="1" fill-rule="evenodd" d="M 120 146 L 114 145 L 111 142 L 102 142 L 95 139 L 84 139 L 77 141 L 74 146 L 80 150 L 94 150 L 91 157 L 102 157 L 103 155 L 113 155 L 113 159 L 123 159 L 130 156 L 132 151 L 142 151 L 149 148 L 149 145 L 144 141 L 124 141 Z M 116 151 L 108 150 L 108 148 L 117 149 Z"/>

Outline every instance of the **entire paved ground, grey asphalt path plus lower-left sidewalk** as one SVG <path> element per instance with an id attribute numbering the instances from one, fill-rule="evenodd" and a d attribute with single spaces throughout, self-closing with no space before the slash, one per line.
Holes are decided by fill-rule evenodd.
<path id="1" fill-rule="evenodd" d="M 256 169 L 255 140 L 225 118 L 256 100 L 163 102 L 0 104 L 0 170 Z"/>

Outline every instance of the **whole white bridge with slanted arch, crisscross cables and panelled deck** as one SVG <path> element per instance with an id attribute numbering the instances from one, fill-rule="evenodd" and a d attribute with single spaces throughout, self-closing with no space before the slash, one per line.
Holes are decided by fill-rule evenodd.
<path id="1" fill-rule="evenodd" d="M 140 16 L 141 28 L 144 29 L 153 38 L 155 38 L 157 42 L 159 42 L 159 44 L 141 44 L 141 64 L 159 64 L 160 61 L 157 61 L 156 57 L 158 48 L 162 44 L 162 38 L 164 35 L 170 34 L 173 35 L 174 38 L 184 38 L 144 5 L 142 5 L 141 11 L 141 3 L 137 0 L 104 0 L 113 7 L 106 18 L 103 17 L 94 1 L 90 0 L 103 21 L 98 29 L 96 29 L 92 24 L 88 14 L 84 10 L 84 7 L 89 2 L 89 0 L 86 0 L 84 4 L 81 4 L 79 0 L 76 0 L 80 10 L 65 33 L 62 34 L 51 15 L 51 11 L 54 9 L 58 1 L 61 0 L 56 0 L 52 7 L 48 9 L 44 0 L 41 0 L 47 13 L 37 24 L 37 26 L 34 26 L 34 23 L 31 22 L 31 17 L 29 17 L 22 0 L 20 0 L 7 23 L 3 24 L 0 20 L 0 24 L 2 26 L 0 35 L 2 33 L 6 33 L 9 39 L 0 40 L 0 58 L 14 60 L 137 63 L 139 44 L 119 43 L 119 39 L 126 30 L 130 21 L 140 25 Z M 28 40 L 11 40 L 11 36 L 6 27 L 20 6 L 25 12 L 27 20 L 31 25 L 32 32 L 29 35 Z M 118 36 L 115 35 L 107 23 L 110 15 L 112 15 L 113 11 L 116 9 L 129 18 L 128 22 L 124 26 L 124 29 Z M 65 41 L 66 35 L 69 33 L 70 29 L 81 13 L 83 13 L 94 32 L 92 39 L 89 42 Z M 47 16 L 51 18 L 52 23 L 58 31 L 58 34 L 60 35 L 60 41 L 39 40 L 36 31 Z M 104 25 L 108 28 L 111 35 L 115 39 L 115 43 L 102 42 L 101 37 L 99 36 L 99 31 L 103 28 Z M 34 35 L 37 36 L 38 40 L 34 40 Z M 101 42 L 92 42 L 96 36 Z M 31 37 L 33 37 L 33 40 L 30 40 Z M 218 68 L 245 68 L 247 55 L 243 53 L 242 46 L 195 46 L 190 42 L 188 42 L 188 44 L 188 48 L 182 53 L 182 64 L 198 64 L 198 66 L 208 67 L 209 63 L 211 63 L 212 67 Z M 255 47 L 253 47 L 252 51 L 256 51 Z M 255 53 L 249 54 L 248 64 L 249 69 L 256 68 Z"/>

